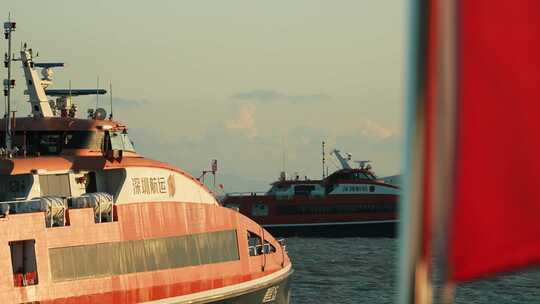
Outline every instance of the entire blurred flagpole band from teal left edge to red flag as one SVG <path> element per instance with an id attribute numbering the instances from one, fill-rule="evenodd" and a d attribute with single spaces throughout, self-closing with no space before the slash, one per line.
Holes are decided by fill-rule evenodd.
<path id="1" fill-rule="evenodd" d="M 452 303 L 446 244 L 456 134 L 456 4 L 410 0 L 409 5 L 398 303 Z M 434 270 L 443 277 L 440 288 L 433 286 Z"/>

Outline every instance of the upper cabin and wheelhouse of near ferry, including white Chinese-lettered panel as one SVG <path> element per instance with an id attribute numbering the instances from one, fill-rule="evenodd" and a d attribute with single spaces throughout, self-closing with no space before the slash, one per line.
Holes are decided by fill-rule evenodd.
<path id="1" fill-rule="evenodd" d="M 94 208 L 95 222 L 102 223 L 117 218 L 117 204 L 216 203 L 191 176 L 137 155 L 119 123 L 67 118 L 15 123 L 16 149 L 0 149 L 0 219 L 44 212 L 46 227 L 56 227 L 69 225 L 71 208 Z"/>

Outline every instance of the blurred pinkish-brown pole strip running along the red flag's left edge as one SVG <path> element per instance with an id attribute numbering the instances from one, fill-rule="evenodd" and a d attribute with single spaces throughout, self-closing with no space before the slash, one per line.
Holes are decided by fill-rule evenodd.
<path id="1" fill-rule="evenodd" d="M 453 0 L 440 0 L 438 6 L 438 91 L 436 102 L 437 117 L 434 138 L 433 165 L 433 231 L 437 248 L 435 265 L 443 278 L 443 285 L 437 290 L 437 298 L 442 303 L 453 303 L 455 284 L 448 281 L 448 235 L 452 218 L 455 181 L 455 149 L 457 141 L 457 4 Z"/>

